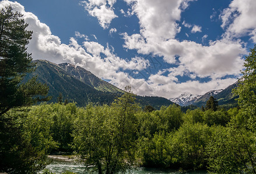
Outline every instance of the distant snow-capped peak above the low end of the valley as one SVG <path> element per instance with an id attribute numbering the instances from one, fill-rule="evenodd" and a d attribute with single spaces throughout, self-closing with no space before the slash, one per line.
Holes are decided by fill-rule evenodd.
<path id="1" fill-rule="evenodd" d="M 201 95 L 192 95 L 191 93 L 185 92 L 176 98 L 171 98 L 171 102 L 177 103 L 180 106 L 188 106 L 194 103 Z"/>

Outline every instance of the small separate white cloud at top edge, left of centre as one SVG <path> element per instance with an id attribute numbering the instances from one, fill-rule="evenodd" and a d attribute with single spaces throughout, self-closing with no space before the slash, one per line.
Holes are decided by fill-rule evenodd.
<path id="1" fill-rule="evenodd" d="M 118 17 L 114 13 L 113 5 L 116 0 L 88 0 L 88 1 L 81 1 L 80 5 L 84 6 L 87 12 L 93 16 L 97 17 L 99 20 L 100 26 L 104 29 L 108 28 L 111 21 Z"/>

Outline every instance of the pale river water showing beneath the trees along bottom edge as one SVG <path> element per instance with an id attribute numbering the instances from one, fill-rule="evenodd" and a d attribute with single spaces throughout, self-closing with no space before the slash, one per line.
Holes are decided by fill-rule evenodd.
<path id="1" fill-rule="evenodd" d="M 82 164 L 78 164 L 75 162 L 63 161 L 63 160 L 54 160 L 50 165 L 46 167 L 51 172 L 54 173 L 62 173 L 65 171 L 74 172 L 74 173 L 86 173 L 86 167 Z M 91 173 L 91 172 L 90 172 Z M 178 172 L 173 170 L 164 170 L 164 169 L 156 169 L 156 168 L 137 168 L 132 171 L 134 174 L 158 174 L 158 173 L 169 173 L 169 174 L 181 174 L 181 173 L 189 173 L 189 174 L 206 174 L 206 171 L 192 171 L 192 172 Z"/>

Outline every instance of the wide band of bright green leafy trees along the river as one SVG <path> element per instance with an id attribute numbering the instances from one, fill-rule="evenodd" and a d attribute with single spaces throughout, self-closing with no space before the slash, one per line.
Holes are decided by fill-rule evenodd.
<path id="1" fill-rule="evenodd" d="M 44 103 L 10 110 L 5 117 L 19 122 L 19 135 L 30 147 L 43 154 L 75 153 L 99 173 L 124 172 L 138 165 L 251 172 L 254 136 L 241 110 L 196 109 L 184 114 L 174 104 L 143 111 L 134 99 L 126 93 L 110 106 L 89 104 L 85 108 L 75 103 Z M 23 146 L 23 150 L 29 152 L 30 147 Z M 19 155 L 20 150 L 13 154 Z"/>

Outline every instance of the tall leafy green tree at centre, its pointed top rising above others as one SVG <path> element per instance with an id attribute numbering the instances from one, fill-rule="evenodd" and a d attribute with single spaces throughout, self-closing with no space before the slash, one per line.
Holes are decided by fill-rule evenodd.
<path id="1" fill-rule="evenodd" d="M 134 95 L 125 93 L 111 106 L 78 110 L 73 133 L 78 154 L 99 173 L 124 173 L 134 164 L 136 117 Z"/>

